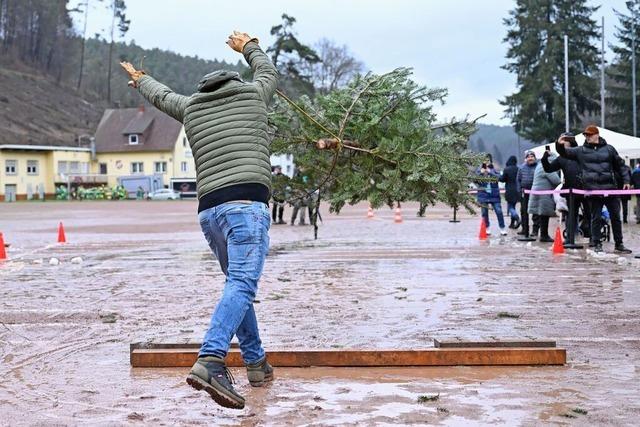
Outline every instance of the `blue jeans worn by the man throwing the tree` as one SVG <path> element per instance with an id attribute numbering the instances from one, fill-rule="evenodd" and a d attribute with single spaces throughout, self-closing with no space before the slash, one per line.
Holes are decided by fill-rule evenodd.
<path id="1" fill-rule="evenodd" d="M 242 358 L 254 364 L 264 358 L 253 301 L 269 251 L 269 207 L 261 202 L 229 202 L 200 212 L 200 227 L 220 262 L 226 281 L 200 356 L 224 358 L 238 336 Z"/>

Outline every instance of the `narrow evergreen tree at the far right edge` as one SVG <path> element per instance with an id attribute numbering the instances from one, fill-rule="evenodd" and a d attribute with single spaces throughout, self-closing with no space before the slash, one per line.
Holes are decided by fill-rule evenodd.
<path id="1" fill-rule="evenodd" d="M 607 74 L 611 79 L 611 84 L 607 88 L 607 105 L 609 106 L 607 127 L 617 132 L 631 135 L 633 133 L 633 100 L 631 94 L 632 16 L 634 10 L 636 17 L 640 15 L 640 0 L 627 1 L 626 6 L 626 13 L 615 11 L 620 23 L 616 27 L 618 44 L 611 46 L 616 57 L 607 70 Z M 636 21 L 636 55 L 638 53 L 638 45 L 640 45 L 640 25 L 638 24 Z M 636 56 L 636 75 L 640 77 L 640 56 Z"/>

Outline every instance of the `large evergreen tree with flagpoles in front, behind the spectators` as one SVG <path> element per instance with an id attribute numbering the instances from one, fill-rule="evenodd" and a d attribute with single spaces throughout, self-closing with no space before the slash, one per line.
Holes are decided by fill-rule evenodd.
<path id="1" fill-rule="evenodd" d="M 587 0 L 517 0 L 504 20 L 508 63 L 518 91 L 501 104 L 516 131 L 533 141 L 550 141 L 565 130 L 564 35 L 569 36 L 569 123 L 598 108 L 597 7 Z"/>

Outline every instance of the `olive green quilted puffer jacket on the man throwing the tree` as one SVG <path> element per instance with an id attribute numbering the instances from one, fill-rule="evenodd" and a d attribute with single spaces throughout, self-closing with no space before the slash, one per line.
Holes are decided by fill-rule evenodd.
<path id="1" fill-rule="evenodd" d="M 267 105 L 278 84 L 278 72 L 256 42 L 243 55 L 254 73 L 244 82 L 233 71 L 207 74 L 191 96 L 174 93 L 150 76 L 138 90 L 159 110 L 184 124 L 196 163 L 198 198 L 239 184 L 271 189 Z"/>

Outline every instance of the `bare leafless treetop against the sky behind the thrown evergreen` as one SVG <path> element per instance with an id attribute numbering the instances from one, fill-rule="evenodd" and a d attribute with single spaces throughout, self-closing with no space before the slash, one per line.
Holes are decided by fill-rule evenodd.
<path id="1" fill-rule="evenodd" d="M 364 64 L 351 55 L 346 45 L 338 46 L 331 40 L 321 39 L 314 48 L 320 62 L 311 64 L 308 74 L 321 93 L 344 86 L 364 70 Z"/>

